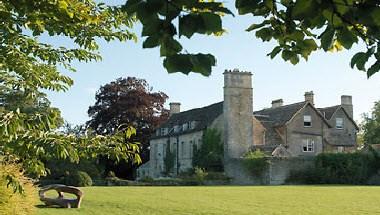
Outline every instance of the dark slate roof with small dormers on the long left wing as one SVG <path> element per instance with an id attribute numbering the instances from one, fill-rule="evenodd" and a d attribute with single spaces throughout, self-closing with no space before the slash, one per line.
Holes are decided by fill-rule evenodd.
<path id="1" fill-rule="evenodd" d="M 173 114 L 168 121 L 163 123 L 159 128 L 169 128 L 172 129 L 173 126 L 179 125 L 181 127 L 180 131 L 177 133 L 173 133 L 173 131 L 169 131 L 168 135 L 153 135 L 154 138 L 162 138 L 165 136 L 173 136 L 185 133 L 191 133 L 194 131 L 200 131 L 205 129 L 207 126 L 210 126 L 211 123 L 221 114 L 223 114 L 223 102 L 218 102 L 215 104 L 211 104 L 202 108 L 195 108 L 188 111 L 179 112 Z M 186 131 L 182 130 L 182 125 L 185 123 L 189 123 L 195 121 L 196 125 L 193 129 L 187 129 Z"/>

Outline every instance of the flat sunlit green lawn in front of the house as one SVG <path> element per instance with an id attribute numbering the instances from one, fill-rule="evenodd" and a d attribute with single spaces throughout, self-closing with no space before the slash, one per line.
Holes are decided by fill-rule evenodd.
<path id="1" fill-rule="evenodd" d="M 86 187 L 81 209 L 37 214 L 380 214 L 380 187 Z"/>

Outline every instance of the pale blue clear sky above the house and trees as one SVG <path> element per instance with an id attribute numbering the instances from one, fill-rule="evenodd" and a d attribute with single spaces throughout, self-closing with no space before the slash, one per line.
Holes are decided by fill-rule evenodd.
<path id="1" fill-rule="evenodd" d="M 229 8 L 233 8 L 227 4 Z M 236 11 L 233 11 L 235 14 Z M 170 102 L 180 102 L 181 111 L 207 106 L 223 100 L 223 72 L 239 69 L 252 72 L 253 109 L 270 107 L 271 101 L 282 98 L 284 104 L 304 100 L 306 91 L 314 92 L 317 107 L 340 104 L 341 95 L 352 95 L 354 119 L 361 120 L 375 101 L 380 100 L 380 74 L 367 79 L 366 74 L 351 69 L 351 57 L 363 48 L 338 53 L 314 52 L 308 61 L 292 65 L 280 56 L 271 60 L 266 56 L 274 43 L 262 42 L 245 29 L 254 22 L 252 16 L 226 16 L 222 37 L 194 36 L 181 38 L 184 49 L 190 53 L 212 53 L 217 58 L 211 76 L 200 74 L 168 74 L 162 66 L 159 49 L 143 49 L 143 39 L 137 43 L 100 41 L 102 61 L 75 63 L 75 73 L 65 72 L 74 85 L 65 93 L 48 92 L 52 106 L 58 107 L 63 118 L 71 124 L 83 124 L 89 120 L 88 107 L 95 103 L 95 93 L 100 86 L 119 77 L 133 76 L 147 80 L 154 91 L 162 91 Z M 139 36 L 140 26 L 134 31 Z M 57 38 L 46 38 L 53 44 L 65 44 Z"/>

